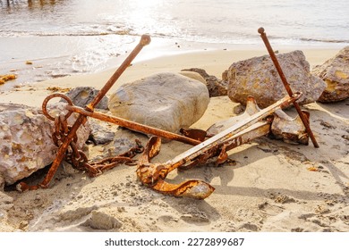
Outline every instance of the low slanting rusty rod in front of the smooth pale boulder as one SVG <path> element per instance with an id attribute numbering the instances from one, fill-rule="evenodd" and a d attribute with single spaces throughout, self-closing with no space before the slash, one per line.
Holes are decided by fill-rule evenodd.
<path id="1" fill-rule="evenodd" d="M 199 140 L 195 140 L 195 139 L 192 139 L 190 137 L 183 137 L 181 135 L 177 135 L 177 134 L 168 132 L 168 131 L 163 130 L 163 129 L 152 128 L 152 127 L 140 124 L 140 123 L 135 122 L 135 121 L 128 121 L 128 120 L 125 120 L 123 118 L 119 118 L 119 117 L 115 117 L 115 116 L 111 116 L 111 115 L 106 115 L 106 114 L 100 113 L 100 112 L 89 112 L 89 111 L 86 111 L 78 106 L 66 105 L 65 108 L 69 111 L 72 111 L 72 112 L 78 112 L 84 116 L 89 116 L 89 117 L 92 117 L 92 118 L 95 118 L 95 119 L 98 119 L 101 121 L 111 122 L 111 123 L 114 123 L 116 125 L 125 127 L 127 129 L 132 129 L 132 130 L 146 133 L 146 134 L 152 134 L 152 135 L 155 135 L 157 137 L 164 137 L 167 139 L 180 141 L 180 142 L 183 142 L 186 144 L 190 144 L 192 146 L 196 146 L 196 145 L 201 143 Z"/>

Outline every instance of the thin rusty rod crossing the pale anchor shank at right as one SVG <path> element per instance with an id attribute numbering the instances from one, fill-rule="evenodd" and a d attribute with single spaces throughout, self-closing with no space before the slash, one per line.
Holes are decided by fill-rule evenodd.
<path id="1" fill-rule="evenodd" d="M 264 28 L 260 28 L 258 29 L 258 32 L 260 33 L 260 37 L 262 38 L 265 46 L 267 47 L 268 53 L 270 55 L 271 60 L 273 61 L 275 67 L 277 68 L 277 72 L 278 75 L 280 76 L 281 81 L 283 82 L 285 89 L 288 93 L 288 96 L 294 96 L 294 93 L 290 87 L 290 85 L 287 82 L 287 79 L 285 78 L 285 74 L 284 71 L 282 71 L 280 64 L 277 61 L 277 56 L 275 55 L 273 48 L 270 46 L 270 43 L 268 41 L 268 37 L 267 34 L 264 32 Z M 315 147 L 319 147 L 318 142 L 316 141 L 312 131 L 311 131 L 311 126 L 309 125 L 309 122 L 307 121 L 307 118 L 304 116 L 301 107 L 299 106 L 299 104 L 297 102 L 294 101 L 294 107 L 297 110 L 302 123 L 304 124 L 305 129 L 307 130 L 307 133 L 309 135 L 309 137 L 311 137 L 311 142 Z"/>

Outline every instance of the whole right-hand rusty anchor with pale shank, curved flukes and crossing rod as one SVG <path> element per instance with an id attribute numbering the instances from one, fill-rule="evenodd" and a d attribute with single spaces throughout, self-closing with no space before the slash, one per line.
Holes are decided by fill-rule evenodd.
<path id="1" fill-rule="evenodd" d="M 161 141 L 157 137 L 152 137 L 143 152 L 138 163 L 137 175 L 140 181 L 158 192 L 172 196 L 185 196 L 196 199 L 205 199 L 215 190 L 209 183 L 199 179 L 190 179 L 180 184 L 172 184 L 166 182 L 166 176 L 174 169 L 188 169 L 195 167 L 201 163 L 205 163 L 211 157 L 217 156 L 216 165 L 226 162 L 228 155 L 226 152 L 243 143 L 247 143 L 254 138 L 268 135 L 269 131 L 274 132 L 274 136 L 282 138 L 286 142 L 297 142 L 308 145 L 309 137 L 315 147 L 319 147 L 309 124 L 309 113 L 302 112 L 296 100 L 302 95 L 297 93 L 294 95 L 291 87 L 285 79 L 277 57 L 274 54 L 268 37 L 263 28 L 258 30 L 268 53 L 277 68 L 277 72 L 282 79 L 288 97 L 279 100 L 276 104 L 272 104 L 260 110 L 257 105 L 252 105 L 251 113 L 245 112 L 247 116 L 243 121 L 239 121 L 231 127 L 221 131 L 217 135 L 209 135 L 209 139 L 202 141 L 208 133 L 206 131 L 184 130 L 183 134 L 195 137 L 202 141 L 198 146 L 194 146 L 183 154 L 179 154 L 174 159 L 165 163 L 151 163 L 150 160 L 155 157 L 160 150 Z M 250 103 L 250 104 L 249 104 Z M 248 100 L 247 106 L 251 105 L 253 100 Z M 299 116 L 297 118 L 288 117 L 282 108 L 294 104 Z M 266 119 L 273 114 L 273 118 Z M 272 122 L 275 119 L 276 122 Z M 301 124 L 302 121 L 302 124 Z M 273 123 L 273 125 L 271 125 Z M 275 124 L 275 125 L 274 125 Z M 284 130 L 283 130 L 284 129 Z"/>

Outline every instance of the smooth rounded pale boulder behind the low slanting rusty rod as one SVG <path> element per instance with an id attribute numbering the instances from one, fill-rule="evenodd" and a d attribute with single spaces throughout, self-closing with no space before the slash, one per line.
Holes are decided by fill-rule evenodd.
<path id="1" fill-rule="evenodd" d="M 124 84 L 108 106 L 117 117 L 176 133 L 198 121 L 208 104 L 203 83 L 166 72 Z"/>

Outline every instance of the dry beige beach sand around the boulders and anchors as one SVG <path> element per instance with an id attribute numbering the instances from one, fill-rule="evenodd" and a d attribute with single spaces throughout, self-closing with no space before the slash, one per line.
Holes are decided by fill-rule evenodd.
<path id="1" fill-rule="evenodd" d="M 280 53 L 293 48 L 279 49 Z M 296 48 L 298 49 L 298 48 Z M 311 66 L 339 49 L 302 49 Z M 266 54 L 264 48 L 177 54 L 134 63 L 120 84 L 161 71 L 197 67 L 221 77 L 231 63 Z M 1 94 L 1 102 L 40 106 L 47 87 L 102 87 L 114 70 L 52 79 Z M 112 93 L 112 91 L 109 93 Z M 211 98 L 193 128 L 208 129 L 234 116 L 228 97 Z M 229 152 L 235 165 L 174 171 L 170 179 L 203 179 L 216 191 L 205 200 L 176 198 L 141 186 L 136 166 L 121 165 L 89 178 L 69 165 L 48 189 L 0 193 L 0 231 L 349 231 L 349 99 L 308 104 L 319 148 L 260 138 Z M 291 112 L 294 113 L 294 112 Z M 115 126 L 108 126 L 116 129 Z M 134 136 L 135 137 L 135 136 Z M 146 142 L 146 137 L 137 135 Z M 154 162 L 165 162 L 191 146 L 170 142 Z M 90 156 L 100 153 L 90 146 Z M 314 171 L 310 171 L 314 170 Z M 30 179 L 37 183 L 38 173 Z"/>

